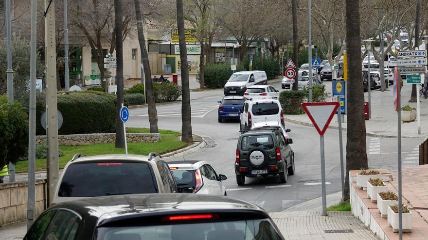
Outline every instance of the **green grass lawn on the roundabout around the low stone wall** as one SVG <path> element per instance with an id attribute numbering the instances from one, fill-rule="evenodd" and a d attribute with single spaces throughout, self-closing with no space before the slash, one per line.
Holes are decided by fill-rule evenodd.
<path id="1" fill-rule="evenodd" d="M 150 133 L 148 128 L 126 128 L 127 133 Z M 158 143 L 128 143 L 128 154 L 147 155 L 150 152 L 158 152 L 160 154 L 171 152 L 179 148 L 185 147 L 187 144 L 178 140 L 179 132 L 170 130 L 159 130 L 160 142 Z M 101 154 L 125 154 L 125 148 L 115 148 L 114 143 L 108 144 L 92 144 L 82 146 L 63 146 L 59 149 L 63 152 L 63 156 L 59 158 L 59 168 L 64 168 L 65 164 L 71 160 L 76 153 L 85 153 L 88 156 Z M 18 161 L 16 164 L 17 173 L 27 172 L 28 161 Z M 46 170 L 46 159 L 36 159 L 36 171 Z"/>

